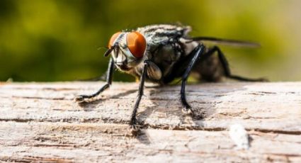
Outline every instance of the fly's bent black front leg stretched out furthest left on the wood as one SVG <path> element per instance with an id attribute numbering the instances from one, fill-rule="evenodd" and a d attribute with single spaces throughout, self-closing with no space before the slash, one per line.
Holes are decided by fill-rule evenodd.
<path id="1" fill-rule="evenodd" d="M 85 102 L 88 99 L 92 99 L 95 96 L 98 96 L 98 94 L 101 94 L 104 90 L 108 89 L 110 87 L 110 84 L 112 84 L 112 79 L 113 79 L 113 70 L 114 70 L 114 62 L 113 59 L 110 58 L 109 64 L 108 64 L 108 71 L 107 71 L 107 77 L 106 77 L 106 84 L 101 87 L 96 93 L 91 94 L 91 95 L 79 95 L 76 96 L 75 101 L 78 103 Z"/>

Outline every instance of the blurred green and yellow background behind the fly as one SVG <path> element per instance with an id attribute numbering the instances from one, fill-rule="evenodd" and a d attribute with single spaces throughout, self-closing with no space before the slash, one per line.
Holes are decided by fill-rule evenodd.
<path id="1" fill-rule="evenodd" d="M 251 40 L 221 46 L 235 74 L 301 80 L 301 1 L 1 0 L 0 81 L 69 81 L 106 71 L 103 52 L 118 30 L 153 23 L 193 27 L 193 36 Z M 119 72 L 118 72 L 119 73 Z M 130 81 L 126 74 L 115 80 Z"/>

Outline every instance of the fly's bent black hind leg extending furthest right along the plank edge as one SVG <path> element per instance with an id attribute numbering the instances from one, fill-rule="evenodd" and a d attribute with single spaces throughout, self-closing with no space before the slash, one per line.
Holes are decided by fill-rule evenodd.
<path id="1" fill-rule="evenodd" d="M 208 52 L 205 53 L 204 57 L 208 58 L 211 55 L 213 55 L 215 52 L 217 52 L 218 59 L 220 60 L 220 62 L 222 64 L 222 68 L 224 69 L 225 76 L 227 78 L 236 79 L 236 80 L 239 80 L 239 81 L 268 81 L 267 79 L 264 79 L 264 78 L 251 79 L 251 78 L 240 77 L 240 76 L 231 74 L 227 59 L 226 59 L 225 55 L 222 53 L 222 51 L 220 50 L 220 47 L 214 46 L 214 47 L 210 48 L 208 50 Z"/>

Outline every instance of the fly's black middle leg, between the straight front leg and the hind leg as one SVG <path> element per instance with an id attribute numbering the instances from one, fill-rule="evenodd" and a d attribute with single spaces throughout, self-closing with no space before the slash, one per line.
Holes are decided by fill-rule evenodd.
<path id="1" fill-rule="evenodd" d="M 183 111 L 183 113 L 186 113 L 186 114 L 191 114 L 193 112 L 191 110 L 191 106 L 186 101 L 185 88 L 186 88 L 186 84 L 187 84 L 187 79 L 189 77 L 189 74 L 191 73 L 191 70 L 193 69 L 193 66 L 195 65 L 195 63 L 198 60 L 200 60 L 200 57 L 203 55 L 204 48 L 205 48 L 204 45 L 198 45 L 198 47 L 195 47 L 195 49 L 193 50 L 193 52 L 191 54 L 191 55 L 193 55 L 193 58 L 189 62 L 188 67 L 182 76 L 181 103 L 184 107 L 182 109 L 182 111 Z"/>

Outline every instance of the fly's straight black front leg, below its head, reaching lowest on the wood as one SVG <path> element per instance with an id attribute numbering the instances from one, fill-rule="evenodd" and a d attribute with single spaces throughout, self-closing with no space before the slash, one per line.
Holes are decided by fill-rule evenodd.
<path id="1" fill-rule="evenodd" d="M 139 130 L 138 126 L 137 126 L 137 109 L 139 108 L 139 104 L 140 101 L 142 99 L 143 96 L 143 90 L 144 90 L 144 81 L 145 81 L 145 77 L 147 75 L 147 67 L 149 66 L 149 62 L 146 60 L 144 61 L 144 67 L 142 70 L 142 74 L 140 77 L 140 84 L 139 84 L 139 89 L 138 89 L 138 95 L 137 95 L 137 99 L 135 101 L 135 106 L 134 109 L 132 111 L 132 116 L 130 118 L 130 128 L 132 130 L 132 132 L 136 132 L 137 130 Z"/>

